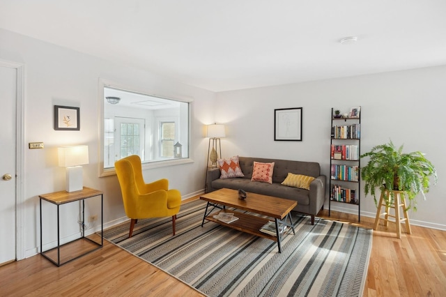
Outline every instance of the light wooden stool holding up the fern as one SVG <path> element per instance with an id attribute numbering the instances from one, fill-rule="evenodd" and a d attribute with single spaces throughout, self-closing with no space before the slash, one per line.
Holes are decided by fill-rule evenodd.
<path id="1" fill-rule="evenodd" d="M 393 203 L 390 202 L 393 196 Z M 385 206 L 385 212 L 380 213 L 381 207 Z M 403 208 L 404 218 L 401 218 L 400 207 Z M 395 215 L 390 215 L 390 208 L 394 208 Z M 384 215 L 384 218 L 380 218 L 381 215 Z M 394 218 L 394 220 L 389 220 L 390 218 Z M 406 196 L 403 191 L 394 191 L 394 190 L 381 190 L 381 197 L 378 203 L 378 211 L 376 211 L 376 218 L 374 224 L 374 230 L 378 228 L 379 220 L 384 220 L 384 226 L 387 227 L 388 222 L 394 222 L 397 224 L 397 238 L 401 238 L 401 222 L 406 222 L 406 232 L 411 234 L 410 230 L 410 222 L 409 216 L 407 213 L 406 206 Z"/>

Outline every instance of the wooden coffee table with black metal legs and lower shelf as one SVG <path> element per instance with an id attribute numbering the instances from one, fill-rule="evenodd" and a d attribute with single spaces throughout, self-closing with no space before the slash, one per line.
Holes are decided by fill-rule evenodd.
<path id="1" fill-rule="evenodd" d="M 296 205 L 298 205 L 298 202 L 296 201 L 250 192 L 247 193 L 246 199 L 242 200 L 238 198 L 237 190 L 226 188 L 201 195 L 200 199 L 208 201 L 208 204 L 206 205 L 206 211 L 203 215 L 203 222 L 201 222 L 201 227 L 203 227 L 204 220 L 209 220 L 218 224 L 222 224 L 226 227 L 236 229 L 238 231 L 243 231 L 263 238 L 268 238 L 272 241 L 277 241 L 279 252 L 282 252 L 282 248 L 280 246 L 282 236 L 288 231 L 288 229 L 286 229 L 283 234 L 281 234 L 279 232 L 279 224 L 284 224 L 290 227 L 293 230 L 294 234 L 293 221 L 291 220 L 290 212 Z M 212 209 L 210 209 L 210 211 L 208 211 L 209 206 L 212 206 Z M 222 209 L 222 211 L 229 212 L 226 211 L 226 206 L 237 208 L 241 211 L 259 213 L 261 215 L 266 215 L 270 218 L 274 218 L 276 226 L 276 236 L 272 236 L 260 231 L 261 227 L 263 227 L 263 225 L 270 220 L 269 218 L 263 218 L 248 213 L 242 213 L 240 211 L 230 211 L 231 213 L 234 213 L 234 216 L 236 216 L 238 220 L 226 224 L 225 222 L 213 218 L 213 215 L 216 215 L 217 213 L 213 213 L 213 215 L 210 215 L 210 213 L 212 213 L 215 208 L 220 208 Z M 286 222 L 287 218 L 289 219 L 289 222 Z"/>

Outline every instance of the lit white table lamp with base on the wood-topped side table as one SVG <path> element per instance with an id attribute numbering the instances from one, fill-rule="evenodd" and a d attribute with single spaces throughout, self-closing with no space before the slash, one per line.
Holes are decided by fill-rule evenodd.
<path id="1" fill-rule="evenodd" d="M 59 166 L 66 167 L 66 191 L 75 192 L 84 187 L 82 166 L 89 164 L 89 146 L 63 146 L 58 148 Z"/>

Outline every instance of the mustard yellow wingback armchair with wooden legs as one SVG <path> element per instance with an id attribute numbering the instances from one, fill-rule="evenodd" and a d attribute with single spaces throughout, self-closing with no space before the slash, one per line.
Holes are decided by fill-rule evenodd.
<path id="1" fill-rule="evenodd" d="M 170 216 L 175 235 L 176 214 L 181 205 L 180 191 L 169 190 L 169 181 L 166 178 L 145 183 L 138 155 L 118 160 L 114 167 L 121 185 L 125 214 L 131 219 L 128 237 L 132 237 L 134 224 L 138 219 Z"/>

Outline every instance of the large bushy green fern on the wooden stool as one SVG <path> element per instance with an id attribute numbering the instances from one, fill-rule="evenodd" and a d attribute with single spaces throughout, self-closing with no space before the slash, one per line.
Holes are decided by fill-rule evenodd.
<path id="1" fill-rule="evenodd" d="M 369 157 L 365 167 L 361 167 L 361 177 L 364 181 L 365 195 L 371 194 L 376 201 L 376 188 L 400 190 L 406 192 L 409 200 L 408 208 L 417 210 L 415 197 L 429 192 L 430 178 L 437 183 L 437 172 L 432 163 L 420 151 L 403 153 L 403 146 L 397 148 L 392 141 L 371 148 L 371 151 L 361 155 Z"/>

